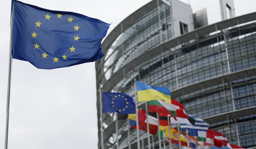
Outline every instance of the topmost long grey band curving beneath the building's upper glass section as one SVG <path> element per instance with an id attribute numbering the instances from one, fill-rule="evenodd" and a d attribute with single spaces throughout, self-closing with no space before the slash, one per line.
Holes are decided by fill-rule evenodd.
<path id="1" fill-rule="evenodd" d="M 153 58 L 154 56 L 159 54 L 159 49 L 162 49 L 162 52 L 164 52 L 166 50 L 170 50 L 170 48 L 172 48 L 172 47 L 180 45 L 181 43 L 189 42 L 190 40 L 193 40 L 198 37 L 202 37 L 204 35 L 208 35 L 209 33 L 215 32 L 216 27 L 217 27 L 217 30 L 222 30 L 222 29 L 226 29 L 228 27 L 232 27 L 232 26 L 235 26 L 238 24 L 250 22 L 255 19 L 256 19 L 256 12 L 246 14 L 243 16 L 238 16 L 238 17 L 231 18 L 231 19 L 228 19 L 225 21 L 217 22 L 215 24 L 211 24 L 209 26 L 200 27 L 199 29 L 193 30 L 193 31 L 183 34 L 177 38 L 174 38 L 174 39 L 164 42 L 158 46 L 155 46 L 154 48 L 151 48 L 151 49 L 145 51 L 143 54 L 138 55 L 132 61 L 128 62 L 126 65 L 121 67 L 117 72 L 112 74 L 110 79 L 107 80 L 106 82 L 104 82 L 102 90 L 110 91 L 112 88 L 115 87 L 115 85 L 118 82 L 120 82 L 120 80 L 123 79 L 124 72 L 126 72 L 126 73 L 130 72 L 138 64 L 143 63 L 147 59 Z M 196 43 L 194 43 L 194 44 L 196 44 Z M 97 65 L 96 67 L 103 67 L 103 63 L 102 63 L 102 65 Z M 99 75 L 104 75 L 104 74 L 99 74 Z M 101 76 L 101 78 L 102 77 L 103 76 Z"/>

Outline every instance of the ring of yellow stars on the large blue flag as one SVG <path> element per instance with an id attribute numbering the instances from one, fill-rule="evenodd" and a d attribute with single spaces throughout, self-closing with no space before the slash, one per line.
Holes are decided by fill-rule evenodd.
<path id="1" fill-rule="evenodd" d="M 63 16 L 63 14 L 60 14 L 60 13 L 58 13 L 58 14 L 56 14 L 57 15 L 57 18 L 60 18 L 60 19 L 62 19 L 62 16 Z M 47 13 L 47 15 L 44 15 L 45 16 L 45 20 L 49 20 L 50 21 L 50 17 L 52 17 L 52 16 L 49 16 L 49 13 Z M 68 22 L 72 22 L 74 19 L 72 18 L 72 16 L 70 16 L 70 18 L 67 18 L 68 19 Z M 42 24 L 42 22 L 39 22 L 39 20 L 37 20 L 37 22 L 35 22 L 35 24 L 36 24 L 36 27 L 41 27 L 40 25 Z M 75 29 L 74 29 L 74 31 L 75 30 L 77 30 L 77 31 L 79 31 L 78 29 L 80 28 L 79 26 L 78 26 L 78 24 L 76 24 L 76 26 L 73 26 Z M 35 31 L 33 32 L 33 33 L 31 33 L 31 35 L 32 35 L 32 37 L 31 38 L 36 38 L 36 36 L 38 35 L 38 34 L 36 34 L 35 33 Z M 75 41 L 78 41 L 79 40 L 79 38 L 80 37 L 78 37 L 78 35 L 76 35 L 76 37 L 74 37 L 75 39 L 74 39 L 74 42 Z M 39 50 L 39 46 L 40 45 L 38 45 L 38 43 L 35 43 L 34 44 L 34 48 L 35 49 L 37 49 L 37 50 Z M 75 52 L 75 47 L 73 47 L 73 45 L 72 45 L 72 47 L 70 47 L 70 52 Z M 47 56 L 48 56 L 49 54 L 46 54 L 45 52 L 44 52 L 44 54 L 42 54 L 42 58 L 45 58 L 45 59 L 47 59 Z M 62 56 L 62 58 L 63 58 L 63 60 L 67 60 L 67 56 L 65 56 L 65 53 L 63 53 L 63 56 Z M 55 58 L 52 58 L 53 59 L 53 63 L 54 62 L 58 62 L 58 59 L 59 58 L 57 58 L 56 56 L 55 56 Z M 127 99 L 126 99 L 127 100 Z M 127 107 L 127 106 L 126 106 Z"/>

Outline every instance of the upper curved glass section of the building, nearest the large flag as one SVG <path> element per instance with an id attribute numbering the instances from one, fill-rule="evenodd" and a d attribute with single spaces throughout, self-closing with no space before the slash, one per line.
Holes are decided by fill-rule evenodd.
<path id="1" fill-rule="evenodd" d="M 160 18 L 159 18 L 160 17 Z M 164 21 L 162 21 L 164 20 Z M 136 55 L 167 41 L 172 37 L 170 7 L 162 5 L 142 16 L 138 22 L 126 29 L 110 46 L 105 57 L 104 73 L 110 77 Z"/>

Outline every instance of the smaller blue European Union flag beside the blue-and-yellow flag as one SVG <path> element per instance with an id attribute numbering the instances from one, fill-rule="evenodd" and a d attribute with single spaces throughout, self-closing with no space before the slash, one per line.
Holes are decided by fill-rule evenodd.
<path id="1" fill-rule="evenodd" d="M 125 93 L 102 92 L 103 112 L 118 112 L 118 114 L 134 114 L 135 103 L 133 98 Z"/>

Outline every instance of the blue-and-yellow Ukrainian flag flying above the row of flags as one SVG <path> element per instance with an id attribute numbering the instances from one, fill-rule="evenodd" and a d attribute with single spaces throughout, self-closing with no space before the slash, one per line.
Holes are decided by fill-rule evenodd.
<path id="1" fill-rule="evenodd" d="M 171 92 L 167 87 L 151 87 L 139 81 L 136 81 L 138 102 L 151 100 L 164 100 L 171 103 Z"/>

